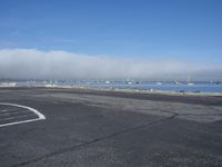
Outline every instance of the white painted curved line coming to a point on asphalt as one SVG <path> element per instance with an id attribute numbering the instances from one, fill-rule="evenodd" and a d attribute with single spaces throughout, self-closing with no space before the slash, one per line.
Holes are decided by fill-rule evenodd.
<path id="1" fill-rule="evenodd" d="M 39 117 L 39 118 L 34 118 L 34 119 L 28 119 L 28 120 L 2 124 L 2 125 L 0 125 L 0 127 L 6 127 L 6 126 L 11 126 L 11 125 L 17 125 L 17 124 L 24 124 L 24 122 L 31 122 L 31 121 L 47 119 L 44 117 L 44 115 L 40 114 L 38 110 L 36 110 L 36 109 L 33 109 L 31 107 L 28 107 L 28 106 L 22 106 L 22 105 L 17 105 L 17 104 L 8 104 L 8 102 L 0 102 L 0 105 L 24 108 L 24 109 L 28 109 L 28 110 L 34 112 Z"/>

